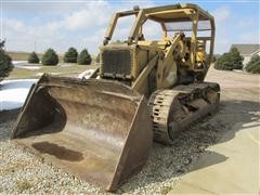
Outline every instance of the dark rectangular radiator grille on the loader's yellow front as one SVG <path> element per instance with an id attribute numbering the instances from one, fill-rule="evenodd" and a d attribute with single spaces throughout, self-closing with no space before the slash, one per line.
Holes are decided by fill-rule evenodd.
<path id="1" fill-rule="evenodd" d="M 102 52 L 103 74 L 130 75 L 131 63 L 130 50 L 103 50 Z"/>

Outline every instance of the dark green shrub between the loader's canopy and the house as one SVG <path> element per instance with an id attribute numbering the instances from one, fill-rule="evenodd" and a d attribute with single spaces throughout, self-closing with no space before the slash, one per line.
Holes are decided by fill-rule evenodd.
<path id="1" fill-rule="evenodd" d="M 243 60 L 239 51 L 236 48 L 231 48 L 230 52 L 221 55 L 214 63 L 216 69 L 242 69 L 243 68 Z"/>

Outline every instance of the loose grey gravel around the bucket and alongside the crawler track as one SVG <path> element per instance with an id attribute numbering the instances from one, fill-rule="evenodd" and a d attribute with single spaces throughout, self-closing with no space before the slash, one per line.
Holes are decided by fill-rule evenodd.
<path id="1" fill-rule="evenodd" d="M 5 130 L 4 136 L 10 134 L 13 123 L 13 120 L 1 123 L 0 130 Z M 216 141 L 218 131 L 209 123 L 199 128 L 194 126 L 180 134 L 171 147 L 155 143 L 144 169 L 117 193 L 168 192 L 179 177 L 190 170 L 200 153 Z M 0 192 L 105 193 L 35 157 L 8 136 L 5 139 L 0 142 Z"/>

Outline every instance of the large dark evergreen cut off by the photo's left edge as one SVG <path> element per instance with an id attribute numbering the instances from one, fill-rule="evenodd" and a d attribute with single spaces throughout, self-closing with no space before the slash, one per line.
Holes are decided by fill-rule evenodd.
<path id="1" fill-rule="evenodd" d="M 13 69 L 12 58 L 0 48 L 0 81 Z"/>

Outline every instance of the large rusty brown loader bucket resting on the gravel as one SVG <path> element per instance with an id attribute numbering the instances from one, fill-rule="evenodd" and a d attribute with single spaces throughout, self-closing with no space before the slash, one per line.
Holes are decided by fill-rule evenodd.
<path id="1" fill-rule="evenodd" d="M 145 164 L 153 142 L 146 100 L 115 81 L 43 75 L 12 139 L 106 191 Z"/>

